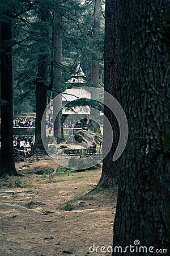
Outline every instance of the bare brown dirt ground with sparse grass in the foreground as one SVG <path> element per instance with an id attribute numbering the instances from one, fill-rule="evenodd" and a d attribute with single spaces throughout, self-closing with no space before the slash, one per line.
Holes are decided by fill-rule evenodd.
<path id="1" fill-rule="evenodd" d="M 57 164 L 48 156 L 26 159 L 16 168 L 23 176 L 0 180 L 0 255 L 111 255 L 117 189 L 87 195 L 101 167 L 57 171 L 51 183 Z M 101 253 L 101 246 L 108 251 Z"/>

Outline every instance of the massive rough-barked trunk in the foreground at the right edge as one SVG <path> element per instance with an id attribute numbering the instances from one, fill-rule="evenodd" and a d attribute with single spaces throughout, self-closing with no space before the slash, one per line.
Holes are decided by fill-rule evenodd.
<path id="1" fill-rule="evenodd" d="M 169 177 L 163 146 L 170 128 L 166 3 L 121 0 L 120 101 L 129 122 L 129 140 L 121 158 L 113 247 L 125 250 L 139 240 L 147 247 L 142 255 L 152 255 L 150 246 L 154 252 L 169 249 Z M 139 255 L 136 247 L 133 254 L 127 249 L 113 250 L 112 255 Z"/>

